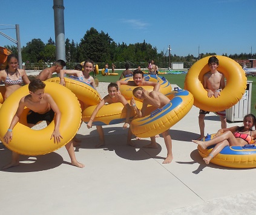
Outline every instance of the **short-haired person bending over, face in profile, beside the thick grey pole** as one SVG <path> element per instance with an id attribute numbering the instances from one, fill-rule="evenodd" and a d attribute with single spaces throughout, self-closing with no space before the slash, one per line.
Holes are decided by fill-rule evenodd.
<path id="1" fill-rule="evenodd" d="M 66 63 L 64 60 L 57 60 L 53 66 L 51 66 L 50 68 L 45 68 L 43 69 L 37 79 L 40 79 L 42 81 L 50 79 L 51 76 L 53 75 L 53 72 L 56 72 L 57 74 L 59 74 L 59 71 L 61 71 L 61 69 L 64 68 L 64 66 L 66 66 Z"/>

